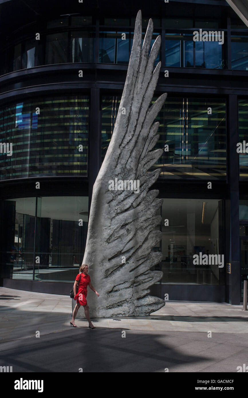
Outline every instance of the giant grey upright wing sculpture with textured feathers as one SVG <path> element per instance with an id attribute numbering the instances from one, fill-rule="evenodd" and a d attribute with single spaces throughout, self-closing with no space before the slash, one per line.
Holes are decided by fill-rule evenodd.
<path id="1" fill-rule="evenodd" d="M 161 298 L 147 295 L 149 286 L 163 275 L 150 271 L 162 259 L 161 252 L 151 250 L 162 238 L 155 227 L 161 222 L 156 212 L 163 200 L 156 199 L 158 190 L 148 191 L 160 169 L 147 170 L 163 152 L 152 150 L 159 138 L 159 123 L 153 122 L 167 96 L 163 94 L 150 106 L 161 67 L 159 62 L 153 71 L 161 37 L 150 51 L 152 32 L 150 20 L 141 46 L 139 11 L 115 127 L 93 187 L 83 263 L 88 264 L 92 284 L 100 294 L 90 298 L 90 316 L 94 318 L 149 315 L 165 304 Z M 109 189 L 115 178 L 139 181 L 139 192 Z"/>

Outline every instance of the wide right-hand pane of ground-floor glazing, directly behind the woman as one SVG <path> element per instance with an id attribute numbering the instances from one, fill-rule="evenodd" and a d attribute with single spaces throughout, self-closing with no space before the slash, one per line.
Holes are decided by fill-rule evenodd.
<path id="1" fill-rule="evenodd" d="M 40 263 L 35 267 L 35 280 L 74 281 L 84 257 L 87 230 L 88 197 L 42 197 L 35 252 Z"/>

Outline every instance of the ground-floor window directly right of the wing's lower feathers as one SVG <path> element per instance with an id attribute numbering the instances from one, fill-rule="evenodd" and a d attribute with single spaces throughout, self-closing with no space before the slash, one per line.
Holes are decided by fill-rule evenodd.
<path id="1" fill-rule="evenodd" d="M 163 219 L 168 211 L 169 226 L 162 223 L 162 283 L 219 285 L 224 270 L 219 200 L 163 199 Z"/>

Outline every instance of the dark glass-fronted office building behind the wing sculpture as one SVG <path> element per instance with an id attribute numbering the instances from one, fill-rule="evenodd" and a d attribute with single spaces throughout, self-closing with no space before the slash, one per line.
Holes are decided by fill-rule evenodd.
<path id="1" fill-rule="evenodd" d="M 142 40 L 149 18 L 151 47 L 161 36 L 152 103 L 168 93 L 156 118 L 163 154 L 150 169 L 160 169 L 152 189 L 164 199 L 153 248 L 163 277 L 151 294 L 239 304 L 248 279 L 248 153 L 237 152 L 248 142 L 248 27 L 224 0 L 50 3 L 0 4 L 1 285 L 68 294 L 141 9 Z M 194 41 L 200 29 L 223 32 L 224 43 Z M 223 267 L 196 264 L 200 254 L 224 256 Z"/>

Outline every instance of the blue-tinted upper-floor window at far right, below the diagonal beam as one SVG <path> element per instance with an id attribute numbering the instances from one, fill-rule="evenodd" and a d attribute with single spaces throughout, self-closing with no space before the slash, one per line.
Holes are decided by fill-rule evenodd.
<path id="1" fill-rule="evenodd" d="M 231 36 L 232 69 L 248 70 L 248 36 Z"/>

